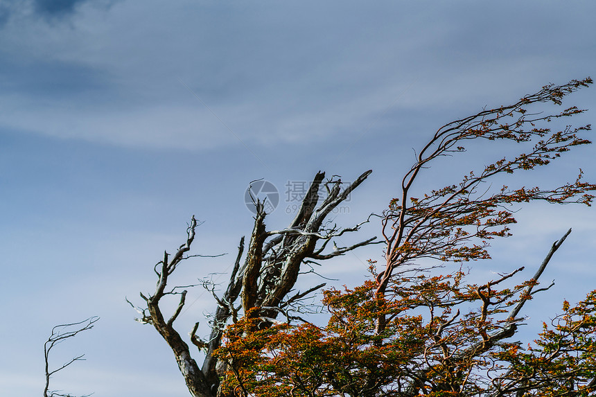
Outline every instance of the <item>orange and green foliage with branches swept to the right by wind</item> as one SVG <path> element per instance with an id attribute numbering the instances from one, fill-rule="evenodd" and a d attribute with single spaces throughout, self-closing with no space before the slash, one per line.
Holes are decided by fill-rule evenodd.
<path id="1" fill-rule="evenodd" d="M 238 396 L 588 396 L 596 393 L 596 291 L 554 318 L 526 347 L 515 335 L 518 312 L 537 291 L 537 273 L 509 285 L 515 272 L 484 285 L 461 269 L 437 274 L 417 264 L 490 258 L 488 240 L 509 236 L 511 204 L 536 200 L 590 205 L 596 185 L 480 189 L 496 175 L 546 166 L 577 145 L 590 126 L 552 132 L 537 123 L 584 112 L 527 111 L 534 103 L 561 105 L 590 78 L 548 85 L 514 105 L 482 112 L 439 128 L 405 174 L 401 193 L 381 215 L 385 263 L 362 285 L 324 292 L 324 326 L 271 325 L 247 313 L 227 328 L 218 358 L 227 362 L 224 395 Z M 430 161 L 463 152 L 470 139 L 505 139 L 531 147 L 469 173 L 459 184 L 412 197 L 412 185 Z M 567 236 L 567 235 L 566 235 Z M 564 238 L 553 245 L 552 252 Z M 558 245 L 557 245 L 558 244 Z M 549 255 L 552 255 L 552 252 Z M 550 256 L 547 257 L 547 259 Z M 547 263 L 547 260 L 545 261 Z M 543 288 L 547 289 L 547 288 Z M 538 290 L 539 291 L 539 290 Z"/>

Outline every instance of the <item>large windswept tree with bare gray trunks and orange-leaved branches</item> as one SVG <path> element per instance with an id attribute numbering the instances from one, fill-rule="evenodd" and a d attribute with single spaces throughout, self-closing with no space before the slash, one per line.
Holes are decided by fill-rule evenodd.
<path id="1" fill-rule="evenodd" d="M 550 258 L 567 238 L 554 242 L 545 261 L 530 279 L 508 286 L 523 268 L 501 274 L 484 285 L 466 281 L 461 264 L 489 259 L 489 240 L 509 236 L 516 222 L 512 206 L 524 202 L 590 205 L 596 185 L 581 179 L 551 188 L 502 186 L 491 190 L 485 182 L 522 170 L 546 166 L 577 145 L 590 143 L 580 136 L 590 126 L 565 127 L 552 132 L 537 127 L 556 118 L 584 112 L 569 107 L 558 113 L 532 113 L 538 103 L 561 105 L 563 97 L 592 83 L 590 78 L 565 85 L 547 85 L 513 105 L 484 109 L 448 123 L 417 153 L 405 173 L 401 192 L 378 215 L 385 245 L 380 271 L 371 261 L 371 276 L 353 289 L 326 290 L 322 305 L 331 315 L 326 326 L 316 326 L 288 309 L 321 288 L 288 298 L 302 263 L 337 256 L 350 249 L 323 254 L 333 236 L 349 229 L 324 227 L 331 203 L 339 203 L 369 174 L 361 175 L 345 191 L 339 181 L 315 209 L 322 184 L 317 174 L 301 212 L 288 229 L 266 231 L 263 205 L 257 215 L 245 263 L 240 267 L 243 240 L 225 294 L 218 309 L 211 339 L 191 340 L 206 349 L 198 369 L 188 346 L 173 330 L 184 306 L 185 291 L 169 321 L 159 310 L 159 299 L 177 294 L 166 291 L 167 276 L 190 249 L 196 221 L 186 244 L 173 259 L 164 255 L 156 271 L 159 281 L 141 322 L 153 324 L 168 341 L 193 396 L 416 396 L 428 394 L 524 396 L 585 396 L 596 392 L 596 292 L 545 326 L 534 345 L 506 342 L 516 335 L 520 312 L 536 292 L 538 279 Z M 464 152 L 471 140 L 511 141 L 529 145 L 512 157 L 502 157 L 471 172 L 459 184 L 412 197 L 412 186 L 423 170 L 439 157 Z M 337 204 L 335 204 L 337 205 Z M 320 247 L 316 247 L 321 242 Z M 423 260 L 423 261 L 421 261 Z M 459 263 L 446 270 L 448 263 Z M 234 301 L 241 296 L 240 306 Z M 283 314 L 286 321 L 276 321 Z M 231 324 L 229 324 L 231 320 Z M 279 324 L 281 322 L 281 324 Z M 225 335 L 225 339 L 222 336 Z M 169 339 L 168 339 L 169 338 Z M 182 343 L 180 343 L 182 342 Z M 182 348 L 180 348 L 182 346 Z M 182 358 L 182 359 L 180 359 Z M 186 368 L 192 367 L 192 370 Z M 189 378 L 193 382 L 189 382 Z"/>

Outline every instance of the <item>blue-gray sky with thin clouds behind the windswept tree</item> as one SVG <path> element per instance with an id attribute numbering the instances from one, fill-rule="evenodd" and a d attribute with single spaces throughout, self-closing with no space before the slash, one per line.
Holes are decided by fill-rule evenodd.
<path id="1" fill-rule="evenodd" d="M 188 396 L 168 346 L 125 297 L 140 304 L 139 291 L 155 288 L 152 266 L 184 242 L 192 215 L 204 222 L 193 253 L 227 255 L 187 261 L 180 284 L 225 280 L 252 229 L 244 198 L 255 179 L 279 191 L 269 229 L 290 222 L 288 189 L 318 170 L 344 181 L 373 170 L 335 222 L 380 213 L 441 125 L 596 77 L 595 13 L 593 1 L 1 0 L 2 394 L 42 394 L 51 328 L 96 315 L 51 358 L 87 359 L 53 389 Z M 589 110 L 565 122 L 594 121 L 595 93 L 570 96 L 566 105 Z M 418 188 L 457 182 L 511 148 L 470 149 L 426 170 Z M 594 182 L 595 158 L 595 147 L 577 148 L 513 183 L 561 184 L 579 168 Z M 528 307 L 528 329 L 539 328 L 562 299 L 593 288 L 596 216 L 541 204 L 516 218 L 493 261 L 472 264 L 480 276 L 520 266 L 531 276 L 573 229 L 543 276 L 556 285 Z M 344 244 L 379 235 L 371 222 Z M 368 258 L 382 261 L 380 247 L 318 271 L 356 285 Z M 213 300 L 197 288 L 187 301 L 180 332 L 200 321 L 207 333 Z"/>

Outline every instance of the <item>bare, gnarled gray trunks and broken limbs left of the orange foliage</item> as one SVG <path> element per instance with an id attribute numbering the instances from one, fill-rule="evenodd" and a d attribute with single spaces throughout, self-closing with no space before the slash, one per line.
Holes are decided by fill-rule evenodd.
<path id="1" fill-rule="evenodd" d="M 340 229 L 335 225 L 327 227 L 325 220 L 333 209 L 347 200 L 349 194 L 360 186 L 370 173 L 370 170 L 363 173 L 343 190 L 340 179 L 326 182 L 328 195 L 319 206 L 317 206 L 319 203 L 319 188 L 324 184 L 325 173 L 317 173 L 301 202 L 296 217 L 290 222 L 287 229 L 266 231 L 265 217 L 267 213 L 265 213 L 263 203 L 257 200 L 255 203 L 257 211 L 254 218 L 254 227 L 244 264 L 240 266 L 244 252 L 244 238 L 242 238 L 227 288 L 222 296 L 218 297 L 213 285 L 205 285 L 213 293 L 218 307 L 212 320 L 209 341 L 204 342 L 195 335 L 198 323 L 195 324 L 191 332 L 191 342 L 199 349 L 204 350 L 205 353 L 201 369 L 193 358 L 189 345 L 184 342 L 184 339 L 173 325 L 184 306 L 186 290 L 179 292 L 177 287 L 166 290 L 168 276 L 175 271 L 180 262 L 192 257 L 187 254 L 191 249 L 191 244 L 195 238 L 195 228 L 197 227 L 197 221 L 194 217 L 192 218 L 187 229 L 186 242 L 177 249 L 171 259 L 166 252 L 164 259 L 156 265 L 155 272 L 158 281 L 155 293 L 150 297 L 141 294 L 146 302 L 146 307 L 137 308 L 129 301 L 131 306 L 141 313 L 141 318 L 137 321 L 143 324 L 152 324 L 172 349 L 179 370 L 184 376 L 186 386 L 192 396 L 222 396 L 219 391 L 220 376 L 225 372 L 226 363 L 218 361 L 213 353 L 221 346 L 225 327 L 230 320 L 237 321 L 239 315 L 244 315 L 250 309 L 256 309 L 253 310 L 254 315 L 263 319 L 262 326 L 270 326 L 280 312 L 286 313 L 286 320 L 288 321 L 290 319 L 299 319 L 299 317 L 292 317 L 288 314 L 289 307 L 299 304 L 300 299 L 324 286 L 324 283 L 319 284 L 306 292 L 297 292 L 297 294 L 287 298 L 297 282 L 304 261 L 323 261 L 343 255 L 358 247 L 375 243 L 375 238 L 369 238 L 350 247 L 324 252 L 327 243 L 333 237 L 359 229 L 361 224 L 344 229 Z M 157 270 L 158 267 L 159 271 Z M 166 321 L 159 303 L 162 298 L 177 294 L 180 295 L 177 309 Z M 238 297 L 240 297 L 240 306 L 236 307 Z M 239 312 L 240 314 L 238 314 Z"/>

